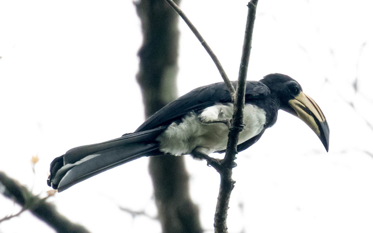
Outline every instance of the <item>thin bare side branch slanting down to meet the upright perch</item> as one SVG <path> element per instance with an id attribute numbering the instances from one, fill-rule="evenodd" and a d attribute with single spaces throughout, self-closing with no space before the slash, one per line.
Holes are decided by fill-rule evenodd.
<path id="1" fill-rule="evenodd" d="M 232 100 L 234 100 L 235 97 L 235 89 L 232 85 L 232 82 L 229 80 L 228 76 L 226 75 L 222 64 L 220 64 L 219 60 L 217 59 L 214 52 L 211 50 L 210 46 L 207 44 L 207 42 L 203 39 L 202 35 L 198 32 L 197 28 L 192 24 L 192 22 L 189 21 L 189 19 L 186 17 L 184 12 L 174 3 L 172 0 L 165 0 L 168 4 L 181 16 L 182 19 L 184 19 L 186 25 L 191 29 L 191 31 L 194 33 L 194 35 L 197 37 L 197 39 L 201 42 L 202 46 L 205 48 L 207 53 L 210 55 L 211 59 L 214 61 L 217 69 L 219 70 L 220 75 L 222 76 L 225 85 L 228 87 L 229 94 L 231 94 Z"/>

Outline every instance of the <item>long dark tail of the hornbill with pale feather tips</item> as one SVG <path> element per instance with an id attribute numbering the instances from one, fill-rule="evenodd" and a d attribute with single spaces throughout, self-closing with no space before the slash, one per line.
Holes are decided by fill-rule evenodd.
<path id="1" fill-rule="evenodd" d="M 143 156 L 160 155 L 154 139 L 165 127 L 128 133 L 98 144 L 72 148 L 50 164 L 49 186 L 62 192 L 98 173 Z"/>

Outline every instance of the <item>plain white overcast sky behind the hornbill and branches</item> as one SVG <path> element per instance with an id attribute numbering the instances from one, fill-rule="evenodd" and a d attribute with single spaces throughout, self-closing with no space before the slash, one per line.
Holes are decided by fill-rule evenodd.
<path id="1" fill-rule="evenodd" d="M 181 5 L 237 78 L 247 1 Z M 238 155 L 230 232 L 372 232 L 373 32 L 370 1 L 259 1 L 248 79 L 285 73 L 322 108 L 330 126 L 326 153 L 300 120 L 277 124 Z M 203 47 L 180 21 L 179 95 L 220 81 Z M 135 81 L 140 21 L 132 1 L 0 0 L 0 170 L 49 190 L 54 157 L 79 145 L 117 138 L 143 121 Z M 358 77 L 359 92 L 352 83 Z M 326 81 L 327 80 L 327 81 Z M 347 102 L 354 104 L 355 109 Z M 271 145 L 271 146 L 268 146 Z M 32 173 L 30 159 L 40 162 Z M 186 156 L 191 195 L 212 232 L 218 174 Z M 91 232 L 160 232 L 118 205 L 156 215 L 147 158 L 116 167 L 49 199 Z M 244 206 L 239 209 L 239 204 Z M 0 196 L 0 218 L 19 207 Z M 0 232 L 53 232 L 25 212 Z"/>

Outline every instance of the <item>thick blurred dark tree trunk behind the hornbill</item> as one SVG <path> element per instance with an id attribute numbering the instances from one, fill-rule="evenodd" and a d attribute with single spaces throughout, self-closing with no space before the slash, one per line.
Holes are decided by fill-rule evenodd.
<path id="1" fill-rule="evenodd" d="M 150 117 L 177 97 L 178 15 L 164 0 L 140 0 L 135 5 L 143 34 L 137 81 L 145 115 Z M 198 207 L 189 197 L 184 157 L 150 157 L 149 171 L 162 232 L 202 232 Z"/>

